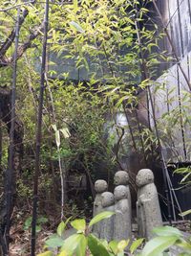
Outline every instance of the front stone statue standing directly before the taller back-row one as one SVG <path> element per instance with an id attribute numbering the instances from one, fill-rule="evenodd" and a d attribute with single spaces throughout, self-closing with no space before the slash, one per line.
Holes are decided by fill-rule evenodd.
<path id="1" fill-rule="evenodd" d="M 114 240 L 121 241 L 131 239 L 131 215 L 128 201 L 128 189 L 124 185 L 119 185 L 114 191 L 115 197 L 115 221 Z"/>

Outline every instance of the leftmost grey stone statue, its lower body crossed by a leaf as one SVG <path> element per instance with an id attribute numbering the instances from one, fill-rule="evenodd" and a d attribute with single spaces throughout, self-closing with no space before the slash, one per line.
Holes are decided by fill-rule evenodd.
<path id="1" fill-rule="evenodd" d="M 94 210 L 93 216 L 95 217 L 97 214 L 102 212 L 102 205 L 101 205 L 101 194 L 106 192 L 108 188 L 107 182 L 103 179 L 97 179 L 95 183 L 95 191 L 96 191 L 96 198 L 94 201 Z M 100 222 L 96 223 L 93 227 L 93 232 L 99 238 L 100 236 Z"/>

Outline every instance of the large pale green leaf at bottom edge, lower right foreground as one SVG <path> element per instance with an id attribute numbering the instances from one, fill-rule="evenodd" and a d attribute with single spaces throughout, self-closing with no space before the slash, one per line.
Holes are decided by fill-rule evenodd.
<path id="1" fill-rule="evenodd" d="M 159 256 L 178 240 L 177 236 L 157 237 L 150 240 L 143 248 L 141 256 Z"/>

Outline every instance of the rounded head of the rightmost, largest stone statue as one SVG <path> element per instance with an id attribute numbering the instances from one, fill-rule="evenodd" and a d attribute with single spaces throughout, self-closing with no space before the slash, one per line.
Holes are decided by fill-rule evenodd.
<path id="1" fill-rule="evenodd" d="M 138 175 L 136 177 L 136 184 L 138 187 L 142 187 L 146 184 L 150 184 L 154 182 L 154 175 L 150 169 L 141 169 L 138 171 Z"/>

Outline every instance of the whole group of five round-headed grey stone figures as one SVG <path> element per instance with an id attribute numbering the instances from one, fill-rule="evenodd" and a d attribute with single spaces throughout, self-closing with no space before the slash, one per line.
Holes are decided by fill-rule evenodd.
<path id="1" fill-rule="evenodd" d="M 140 170 L 136 183 L 138 235 L 150 239 L 153 228 L 162 225 L 153 172 L 149 169 Z M 128 173 L 118 171 L 114 176 L 114 184 L 116 187 L 113 194 L 107 191 L 108 185 L 105 180 L 98 179 L 95 183 L 94 216 L 104 211 L 115 212 L 111 218 L 96 223 L 93 229 L 98 238 L 108 242 L 132 237 L 132 205 Z"/>

